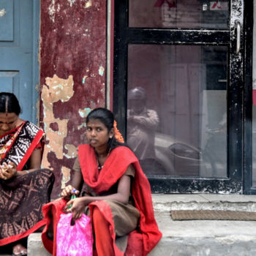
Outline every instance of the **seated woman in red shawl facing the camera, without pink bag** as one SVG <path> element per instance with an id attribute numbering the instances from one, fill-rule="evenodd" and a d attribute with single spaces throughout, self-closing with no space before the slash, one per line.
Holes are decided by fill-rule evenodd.
<path id="1" fill-rule="evenodd" d="M 88 213 L 89 206 L 94 255 L 147 255 L 162 236 L 154 219 L 148 180 L 135 154 L 116 139 L 115 130 L 110 110 L 97 108 L 86 118 L 89 144 L 78 148 L 72 185 L 61 192 L 64 199 L 43 207 L 48 225 L 42 241 L 53 255 L 57 223 L 67 206 L 72 206 L 67 211 L 72 212 L 73 219 Z M 73 194 L 80 197 L 70 200 Z"/>

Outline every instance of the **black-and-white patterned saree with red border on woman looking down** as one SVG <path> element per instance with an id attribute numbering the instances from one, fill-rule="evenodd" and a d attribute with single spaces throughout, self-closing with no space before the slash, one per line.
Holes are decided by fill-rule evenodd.
<path id="1" fill-rule="evenodd" d="M 20 171 L 26 168 L 26 162 L 43 135 L 42 129 L 26 121 L 1 136 L 1 165 L 11 161 Z M 53 182 L 53 173 L 47 169 L 9 180 L 0 179 L 0 246 L 29 236 L 45 225 L 42 206 L 50 201 Z"/>

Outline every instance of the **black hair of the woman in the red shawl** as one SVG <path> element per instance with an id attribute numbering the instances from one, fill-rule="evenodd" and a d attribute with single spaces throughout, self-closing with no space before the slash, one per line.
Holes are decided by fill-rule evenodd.
<path id="1" fill-rule="evenodd" d="M 94 110 L 92 110 L 88 114 L 88 116 L 86 116 L 86 124 L 88 124 L 91 119 L 97 119 L 101 121 L 102 124 L 107 127 L 108 132 L 113 129 L 115 118 L 113 113 L 107 108 L 95 108 Z M 119 142 L 118 140 L 116 140 L 115 136 L 108 140 L 108 147 L 110 148 L 110 150 L 118 146 L 127 146 L 127 144 Z"/>

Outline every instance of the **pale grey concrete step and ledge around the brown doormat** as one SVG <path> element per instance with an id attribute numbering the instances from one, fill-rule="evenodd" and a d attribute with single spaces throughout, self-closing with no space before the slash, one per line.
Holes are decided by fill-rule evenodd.
<path id="1" fill-rule="evenodd" d="M 255 211 L 255 195 L 152 195 L 162 239 L 149 256 L 256 255 L 256 221 L 173 221 L 171 210 Z M 48 256 L 40 233 L 29 236 L 29 256 Z M 7 254 L 5 254 L 7 255 Z M 1 254 L 2 256 L 2 254 Z M 10 255 L 8 255 L 10 256 Z"/>

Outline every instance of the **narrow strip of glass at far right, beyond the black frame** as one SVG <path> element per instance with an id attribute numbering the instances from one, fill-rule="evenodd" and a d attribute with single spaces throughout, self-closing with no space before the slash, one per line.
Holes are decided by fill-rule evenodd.
<path id="1" fill-rule="evenodd" d="M 252 48 L 252 187 L 256 186 L 256 2 L 254 1 L 254 26 L 253 26 L 253 48 Z"/>

